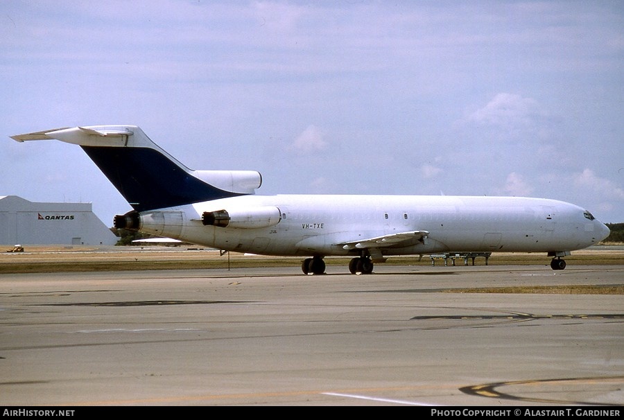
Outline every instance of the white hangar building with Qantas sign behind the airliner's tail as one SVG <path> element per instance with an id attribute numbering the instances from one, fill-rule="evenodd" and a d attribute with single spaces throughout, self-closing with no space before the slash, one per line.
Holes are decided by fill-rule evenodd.
<path id="1" fill-rule="evenodd" d="M 91 203 L 31 202 L 0 195 L 0 244 L 114 245 Z"/>

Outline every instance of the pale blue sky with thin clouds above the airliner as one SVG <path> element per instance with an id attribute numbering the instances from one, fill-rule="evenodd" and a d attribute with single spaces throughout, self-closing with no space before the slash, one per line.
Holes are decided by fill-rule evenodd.
<path id="1" fill-rule="evenodd" d="M 0 2 L 0 195 L 130 206 L 58 127 L 259 193 L 529 195 L 624 222 L 622 1 Z"/>

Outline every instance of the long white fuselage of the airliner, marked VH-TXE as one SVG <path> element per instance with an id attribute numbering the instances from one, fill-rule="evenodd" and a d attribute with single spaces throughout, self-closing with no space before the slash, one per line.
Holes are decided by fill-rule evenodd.
<path id="1" fill-rule="evenodd" d="M 268 227 L 202 225 L 206 211 L 277 207 Z M 141 213 L 141 231 L 220 250 L 283 256 L 353 255 L 345 241 L 426 231 L 381 248 L 433 252 L 569 252 L 602 240 L 607 227 L 581 207 L 542 198 L 431 195 L 243 195 Z"/>

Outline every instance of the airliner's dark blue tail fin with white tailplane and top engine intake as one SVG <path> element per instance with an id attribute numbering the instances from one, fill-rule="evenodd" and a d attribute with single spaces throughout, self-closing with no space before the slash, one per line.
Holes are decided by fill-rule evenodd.
<path id="1" fill-rule="evenodd" d="M 64 128 L 12 138 L 80 145 L 136 211 L 252 194 L 262 182 L 251 170 L 191 170 L 135 125 Z"/>

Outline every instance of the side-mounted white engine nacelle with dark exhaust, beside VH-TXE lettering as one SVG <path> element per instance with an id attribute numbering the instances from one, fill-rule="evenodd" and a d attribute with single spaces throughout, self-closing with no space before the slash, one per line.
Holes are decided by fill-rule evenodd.
<path id="1" fill-rule="evenodd" d="M 277 225 L 279 220 L 281 220 L 281 211 L 274 206 L 204 211 L 202 213 L 202 224 L 215 227 L 258 229 Z"/>

